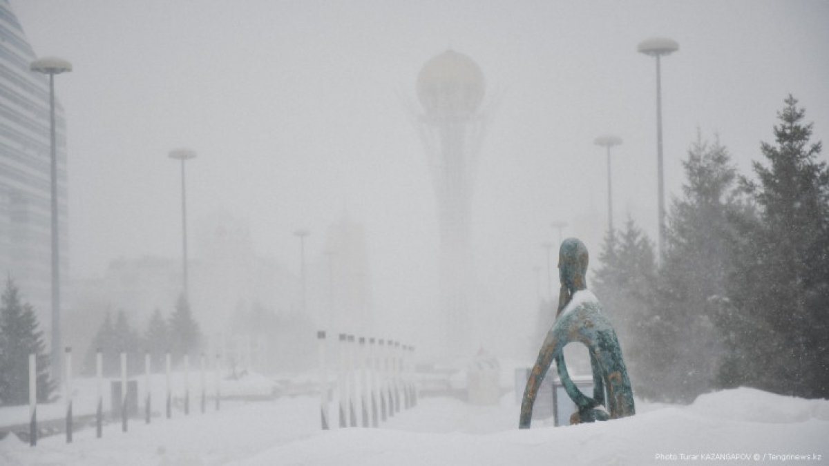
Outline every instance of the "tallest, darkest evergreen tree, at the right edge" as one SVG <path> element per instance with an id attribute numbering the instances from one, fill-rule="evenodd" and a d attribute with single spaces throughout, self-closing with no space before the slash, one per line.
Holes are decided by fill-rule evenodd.
<path id="1" fill-rule="evenodd" d="M 812 124 L 789 95 L 774 126 L 776 145 L 762 143 L 768 162 L 754 162 L 757 182 L 743 180 L 761 222 L 742 270 L 739 306 L 754 310 L 754 328 L 739 346 L 756 365 L 746 383 L 796 396 L 829 396 L 829 168 L 810 143 Z M 746 357 L 744 359 L 749 359 Z"/>

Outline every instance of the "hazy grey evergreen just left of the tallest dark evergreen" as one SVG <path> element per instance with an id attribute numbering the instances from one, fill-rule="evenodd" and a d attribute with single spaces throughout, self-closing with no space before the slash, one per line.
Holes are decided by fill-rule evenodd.
<path id="1" fill-rule="evenodd" d="M 671 398 L 693 400 L 718 384 L 726 342 L 720 303 L 729 297 L 732 259 L 740 238 L 733 221 L 742 211 L 736 169 L 727 149 L 697 135 L 683 162 L 686 183 L 669 215 L 657 308 L 671 345 L 664 368 Z"/>

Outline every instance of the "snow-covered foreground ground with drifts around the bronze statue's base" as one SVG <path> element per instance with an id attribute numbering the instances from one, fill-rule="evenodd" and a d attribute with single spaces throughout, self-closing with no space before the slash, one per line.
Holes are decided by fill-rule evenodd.
<path id="1" fill-rule="evenodd" d="M 829 464 L 829 400 L 740 388 L 648 405 L 589 425 L 517 430 L 515 396 L 474 406 L 424 398 L 380 429 L 319 428 L 317 397 L 225 403 L 218 412 L 110 424 L 36 447 L 0 441 L 0 464 Z M 695 456 L 696 455 L 696 456 Z M 788 456 L 787 456 L 788 455 Z"/>

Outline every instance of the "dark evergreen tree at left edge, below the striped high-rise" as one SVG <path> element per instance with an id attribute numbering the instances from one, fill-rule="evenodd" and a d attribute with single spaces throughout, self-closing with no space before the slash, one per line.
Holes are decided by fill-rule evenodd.
<path id="1" fill-rule="evenodd" d="M 51 400 L 55 383 L 49 377 L 49 357 L 35 310 L 23 303 L 11 277 L 6 281 L 0 306 L 0 403 L 22 405 L 29 401 L 29 355 L 36 355 L 37 400 Z"/>

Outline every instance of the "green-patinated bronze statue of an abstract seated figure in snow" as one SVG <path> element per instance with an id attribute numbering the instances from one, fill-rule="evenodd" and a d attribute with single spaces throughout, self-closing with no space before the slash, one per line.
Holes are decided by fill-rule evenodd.
<path id="1" fill-rule="evenodd" d="M 587 247 L 580 240 L 568 238 L 561 243 L 559 308 L 555 323 L 538 352 L 536 366 L 526 381 L 518 425 L 521 429 L 530 427 L 532 405 L 536 402 L 538 388 L 554 359 L 561 385 L 578 407 L 578 411 L 570 418 L 571 423 L 616 419 L 635 414 L 633 391 L 616 332 L 602 313 L 599 299 L 587 289 L 584 275 L 587 273 L 588 259 Z M 567 373 L 563 350 L 570 342 L 581 342 L 588 348 L 593 371 L 592 398 L 579 391 Z"/>

